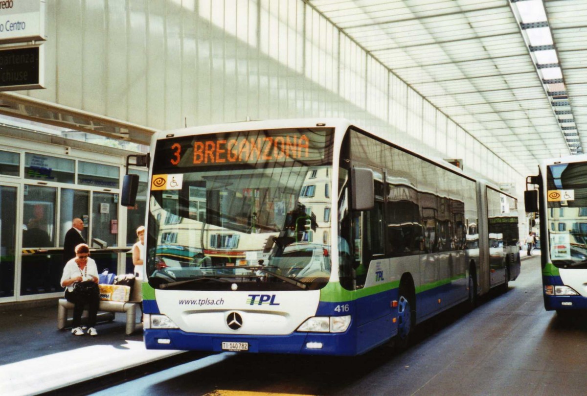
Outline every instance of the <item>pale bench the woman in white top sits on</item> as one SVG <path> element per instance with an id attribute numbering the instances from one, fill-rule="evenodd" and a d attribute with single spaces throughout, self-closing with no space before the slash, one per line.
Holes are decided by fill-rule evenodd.
<path id="1" fill-rule="evenodd" d="M 140 311 L 140 301 L 142 300 L 142 287 L 143 285 L 141 284 L 141 280 L 135 279 L 133 291 L 131 293 L 129 301 L 126 303 L 122 303 L 120 301 L 101 300 L 100 305 L 98 307 L 98 316 L 96 320 L 113 321 L 114 313 L 126 313 L 126 334 L 130 335 L 133 334 L 136 330 L 142 330 L 143 324 L 136 323 L 137 310 Z M 57 328 L 59 330 L 62 330 L 66 327 L 71 327 L 73 318 L 68 317 L 68 311 L 72 311 L 73 313 L 73 303 L 70 303 L 65 298 L 59 298 L 57 310 Z M 87 310 L 84 310 L 82 314 L 82 319 L 85 317 L 87 317 Z"/>

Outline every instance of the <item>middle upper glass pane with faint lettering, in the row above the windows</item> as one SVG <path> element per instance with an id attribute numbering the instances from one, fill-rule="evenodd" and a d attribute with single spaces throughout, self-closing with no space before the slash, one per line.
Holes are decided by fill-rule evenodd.
<path id="1" fill-rule="evenodd" d="M 75 161 L 25 153 L 25 177 L 46 182 L 75 183 Z"/>

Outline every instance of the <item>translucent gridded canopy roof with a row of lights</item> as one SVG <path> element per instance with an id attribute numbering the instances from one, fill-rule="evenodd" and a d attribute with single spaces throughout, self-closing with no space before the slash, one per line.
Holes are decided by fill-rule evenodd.
<path id="1" fill-rule="evenodd" d="M 307 2 L 515 169 L 583 152 L 584 0 Z"/>

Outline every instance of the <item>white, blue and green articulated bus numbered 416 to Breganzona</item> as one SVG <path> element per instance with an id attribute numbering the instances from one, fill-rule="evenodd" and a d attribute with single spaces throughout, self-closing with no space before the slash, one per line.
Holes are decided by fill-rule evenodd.
<path id="1" fill-rule="evenodd" d="M 150 349 L 403 347 L 519 274 L 514 197 L 346 120 L 170 130 L 151 153 Z"/>

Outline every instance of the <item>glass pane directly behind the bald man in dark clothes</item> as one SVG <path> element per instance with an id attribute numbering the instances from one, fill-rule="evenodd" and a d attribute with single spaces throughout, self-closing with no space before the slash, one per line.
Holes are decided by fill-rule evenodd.
<path id="1" fill-rule="evenodd" d="M 83 190 L 61 189 L 59 202 L 59 247 L 63 247 L 65 234 L 72 227 L 73 219 L 82 219 L 84 229 L 82 237 L 87 242 L 87 226 L 89 220 L 90 193 Z"/>

